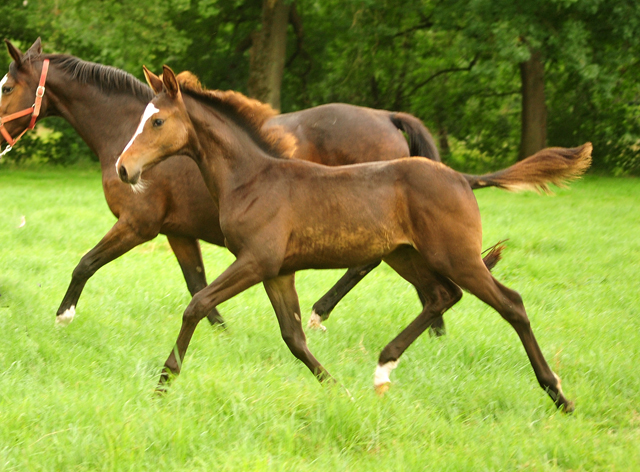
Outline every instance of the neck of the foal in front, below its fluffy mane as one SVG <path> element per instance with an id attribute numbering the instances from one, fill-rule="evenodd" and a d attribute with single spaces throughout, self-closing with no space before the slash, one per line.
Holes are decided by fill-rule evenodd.
<path id="1" fill-rule="evenodd" d="M 194 126 L 193 154 L 207 187 L 216 201 L 224 200 L 241 187 L 250 187 L 258 176 L 272 175 L 266 169 L 279 161 L 269 156 L 249 134 L 224 114 L 211 112 L 185 97 Z"/>

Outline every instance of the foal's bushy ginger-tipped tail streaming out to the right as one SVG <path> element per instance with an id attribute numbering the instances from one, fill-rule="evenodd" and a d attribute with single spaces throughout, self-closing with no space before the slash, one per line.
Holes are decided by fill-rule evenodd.
<path id="1" fill-rule="evenodd" d="M 533 190 L 551 193 L 550 183 L 564 187 L 591 165 L 591 143 L 577 148 L 546 148 L 533 156 L 492 174 L 462 174 L 472 189 L 498 187 L 511 192 Z"/>

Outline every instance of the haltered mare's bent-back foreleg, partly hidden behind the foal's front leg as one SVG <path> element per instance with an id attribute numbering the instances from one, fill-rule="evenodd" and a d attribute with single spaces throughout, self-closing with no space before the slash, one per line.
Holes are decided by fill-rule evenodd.
<path id="1" fill-rule="evenodd" d="M 179 236 L 167 236 L 167 240 L 176 255 L 176 259 L 178 259 L 189 293 L 193 296 L 207 286 L 207 276 L 204 272 L 200 243 L 197 239 Z M 220 324 L 224 326 L 224 319 L 215 307 L 209 312 L 207 319 L 212 325 Z"/>

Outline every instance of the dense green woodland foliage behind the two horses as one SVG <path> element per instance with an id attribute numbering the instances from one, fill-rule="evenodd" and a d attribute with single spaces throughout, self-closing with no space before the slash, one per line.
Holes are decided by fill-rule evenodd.
<path id="1" fill-rule="evenodd" d="M 0 6 L 0 32 L 23 48 L 41 35 L 48 52 L 138 77 L 143 63 L 154 70 L 168 63 L 208 87 L 246 92 L 261 5 L 10 0 Z M 297 0 L 295 10 L 302 29 L 296 35 L 290 27 L 285 112 L 328 102 L 410 112 L 439 137 L 448 162 L 461 163 L 468 153 L 447 154 L 464 148 L 498 167 L 517 154 L 518 64 L 536 50 L 545 64 L 549 145 L 592 141 L 599 170 L 640 171 L 640 11 L 633 2 Z M 7 66 L 0 54 L 0 67 Z M 72 142 L 70 130 L 64 134 L 50 147 Z"/>

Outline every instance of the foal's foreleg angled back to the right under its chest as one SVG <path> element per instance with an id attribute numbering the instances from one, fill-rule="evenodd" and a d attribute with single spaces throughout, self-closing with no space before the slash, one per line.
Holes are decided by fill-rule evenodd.
<path id="1" fill-rule="evenodd" d="M 291 353 L 300 359 L 320 382 L 332 379 L 329 372 L 322 367 L 307 347 L 307 338 L 300 320 L 300 304 L 296 293 L 295 275 L 267 279 L 263 285 L 278 317 L 282 339 Z"/>

